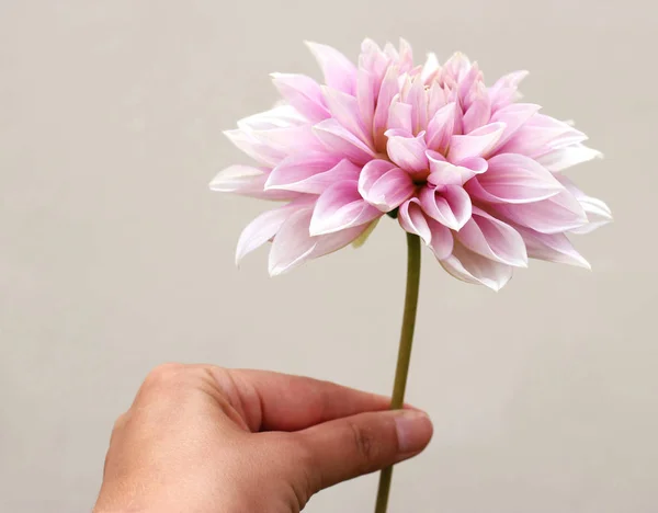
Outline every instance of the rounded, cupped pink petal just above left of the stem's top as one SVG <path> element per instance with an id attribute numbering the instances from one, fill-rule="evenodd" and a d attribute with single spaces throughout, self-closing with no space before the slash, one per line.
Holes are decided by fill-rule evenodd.
<path id="1" fill-rule="evenodd" d="M 415 191 L 411 176 L 385 160 L 372 160 L 361 171 L 359 193 L 382 212 L 390 212 Z"/>

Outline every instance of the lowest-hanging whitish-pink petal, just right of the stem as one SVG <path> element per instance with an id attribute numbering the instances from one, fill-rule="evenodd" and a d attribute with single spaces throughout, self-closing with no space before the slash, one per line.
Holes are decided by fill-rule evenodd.
<path id="1" fill-rule="evenodd" d="M 481 284 L 500 290 L 512 278 L 512 266 L 480 256 L 455 243 L 452 254 L 440 260 L 445 271 L 466 283 Z"/>

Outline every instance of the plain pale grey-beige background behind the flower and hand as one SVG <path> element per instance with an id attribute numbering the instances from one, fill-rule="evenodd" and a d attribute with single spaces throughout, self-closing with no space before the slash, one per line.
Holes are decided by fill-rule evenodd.
<path id="1" fill-rule="evenodd" d="M 114 418 L 166 361 L 262 367 L 387 392 L 399 228 L 271 280 L 232 264 L 266 205 L 207 182 L 222 135 L 318 76 L 303 39 L 461 49 L 489 81 L 575 118 L 606 160 L 571 176 L 615 223 L 594 271 L 533 262 L 499 294 L 424 253 L 409 400 L 435 436 L 390 511 L 658 511 L 656 12 L 647 0 L 0 2 L 0 510 L 89 511 Z M 371 511 L 376 477 L 309 512 Z"/>

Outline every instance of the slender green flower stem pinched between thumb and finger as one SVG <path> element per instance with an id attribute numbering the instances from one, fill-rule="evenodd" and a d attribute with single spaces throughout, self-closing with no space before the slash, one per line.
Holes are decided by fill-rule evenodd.
<path id="1" fill-rule="evenodd" d="M 402 317 L 400 346 L 395 371 L 395 385 L 393 387 L 393 399 L 390 401 L 392 410 L 399 410 L 405 403 L 405 389 L 407 388 L 407 376 L 409 375 L 409 362 L 411 360 L 411 344 L 413 342 L 413 329 L 416 328 L 419 286 L 420 238 L 417 235 L 407 233 L 407 293 L 405 295 L 405 315 Z M 379 488 L 377 490 L 375 513 L 386 513 L 392 477 L 393 467 L 385 468 L 379 475 Z"/>

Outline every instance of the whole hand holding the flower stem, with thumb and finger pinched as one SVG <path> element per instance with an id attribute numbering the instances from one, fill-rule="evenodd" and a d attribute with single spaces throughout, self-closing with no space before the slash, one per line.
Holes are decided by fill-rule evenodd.
<path id="1" fill-rule="evenodd" d="M 262 371 L 167 364 L 112 432 L 94 513 L 296 513 L 419 454 L 432 423 L 389 398 Z"/>

